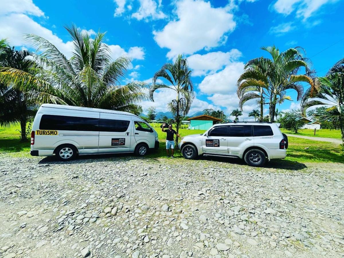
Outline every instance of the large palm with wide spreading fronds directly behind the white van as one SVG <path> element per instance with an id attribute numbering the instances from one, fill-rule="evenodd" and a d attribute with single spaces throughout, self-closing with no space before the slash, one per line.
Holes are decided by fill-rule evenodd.
<path id="1" fill-rule="evenodd" d="M 130 65 L 130 58 L 111 61 L 104 44 L 105 33 L 91 39 L 75 25 L 65 27 L 73 39 L 73 56 L 68 59 L 52 43 L 37 35 L 27 35 L 41 55 L 35 56 L 31 73 L 16 68 L 1 68 L 0 82 L 18 85 L 37 103 L 57 103 L 92 108 L 142 112 L 137 103 L 148 100 L 145 83 L 121 85 Z"/>

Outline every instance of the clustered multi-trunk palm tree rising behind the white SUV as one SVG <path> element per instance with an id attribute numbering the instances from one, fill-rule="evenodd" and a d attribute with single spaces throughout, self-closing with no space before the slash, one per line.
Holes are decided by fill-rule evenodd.
<path id="1" fill-rule="evenodd" d="M 269 121 L 273 122 L 276 105 L 282 104 L 284 100 L 291 100 L 290 96 L 286 95 L 287 89 L 294 89 L 297 92 L 297 100 L 300 100 L 303 94 L 301 82 L 313 85 L 309 76 L 312 71 L 301 47 L 284 52 L 280 52 L 275 46 L 261 49 L 267 51 L 272 59 L 258 57 L 246 63 L 245 71 L 237 82 L 237 95 L 240 108 L 247 100 L 257 100 L 260 105 L 260 120 L 263 105 L 269 104 Z M 306 74 L 298 75 L 302 67 L 305 68 Z"/>

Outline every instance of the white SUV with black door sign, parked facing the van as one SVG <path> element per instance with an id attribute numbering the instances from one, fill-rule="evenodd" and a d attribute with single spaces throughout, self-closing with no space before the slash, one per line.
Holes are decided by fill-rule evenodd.
<path id="1" fill-rule="evenodd" d="M 244 159 L 250 166 L 263 166 L 266 160 L 284 159 L 288 138 L 269 122 L 216 124 L 201 135 L 185 136 L 179 143 L 185 159 L 223 156 Z"/>

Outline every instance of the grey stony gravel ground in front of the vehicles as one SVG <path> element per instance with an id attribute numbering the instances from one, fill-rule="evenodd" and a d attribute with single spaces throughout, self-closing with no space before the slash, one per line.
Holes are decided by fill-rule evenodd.
<path id="1" fill-rule="evenodd" d="M 343 164 L 231 162 L 0 154 L 0 257 L 344 256 Z"/>

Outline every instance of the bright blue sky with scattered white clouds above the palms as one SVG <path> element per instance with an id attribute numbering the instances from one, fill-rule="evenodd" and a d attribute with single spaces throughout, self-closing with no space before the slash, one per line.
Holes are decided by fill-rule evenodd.
<path id="1" fill-rule="evenodd" d="M 132 66 L 123 82 L 151 78 L 178 54 L 189 60 L 196 98 L 189 114 L 205 108 L 238 107 L 236 81 L 248 60 L 266 55 L 261 46 L 281 51 L 302 46 L 322 76 L 344 57 L 344 5 L 341 0 L 0 0 L 0 38 L 18 48 L 30 48 L 23 34 L 34 33 L 70 56 L 71 39 L 63 25 L 75 23 L 94 34 L 106 33 L 112 58 L 130 56 Z M 339 42 L 338 42 L 339 41 Z M 279 110 L 298 108 L 296 94 Z M 167 111 L 175 96 L 160 90 L 155 102 L 142 103 Z M 241 118 L 257 109 L 247 103 Z"/>

